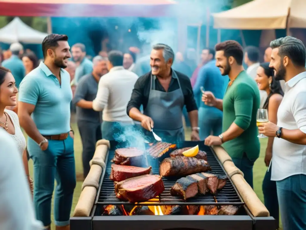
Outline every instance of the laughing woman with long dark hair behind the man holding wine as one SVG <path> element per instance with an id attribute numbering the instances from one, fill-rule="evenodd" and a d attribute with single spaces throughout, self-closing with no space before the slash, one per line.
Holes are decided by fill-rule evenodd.
<path id="1" fill-rule="evenodd" d="M 257 68 L 255 78 L 259 90 L 267 92 L 267 100 L 263 105 L 263 109 L 268 110 L 269 121 L 277 124 L 277 110 L 282 102 L 284 92 L 279 81 L 274 79 L 274 69 L 269 67 L 269 63 L 261 63 Z M 271 166 L 270 162 L 273 155 L 273 140 L 274 137 L 268 139 L 266 148 L 265 163 L 268 167 L 266 175 L 263 179 L 263 197 L 264 203 L 270 212 L 270 215 L 279 222 L 279 208 L 276 191 L 276 182 L 271 181 Z"/>

